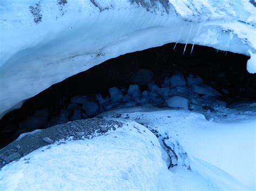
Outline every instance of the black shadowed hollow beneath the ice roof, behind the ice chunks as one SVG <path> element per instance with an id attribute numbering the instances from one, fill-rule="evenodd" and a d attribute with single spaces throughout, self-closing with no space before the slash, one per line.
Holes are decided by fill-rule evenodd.
<path id="1" fill-rule="evenodd" d="M 51 121 L 67 107 L 73 96 L 86 95 L 89 100 L 95 100 L 97 94 L 106 96 L 111 87 L 127 90 L 130 84 L 136 83 L 134 76 L 141 69 L 151 71 L 151 81 L 158 86 L 165 77 L 177 73 L 185 77 L 190 74 L 199 75 L 206 85 L 224 95 L 221 99 L 225 100 L 227 105 L 238 101 L 256 100 L 256 74 L 247 72 L 247 56 L 204 46 L 194 46 L 192 54 L 183 54 L 185 45 L 177 44 L 173 50 L 174 45 L 166 44 L 107 60 L 85 72 L 53 84 L 42 93 L 29 98 L 22 108 L 11 111 L 1 119 L 0 147 L 9 144 L 21 133 L 35 130 L 21 125 L 21 122 L 33 116 L 35 111 L 40 113 L 47 109 L 46 118 L 47 121 Z M 140 88 L 147 89 L 147 85 L 140 84 Z M 69 115 L 72 115 L 72 112 Z M 43 125 L 39 129 L 47 127 L 49 126 Z"/>

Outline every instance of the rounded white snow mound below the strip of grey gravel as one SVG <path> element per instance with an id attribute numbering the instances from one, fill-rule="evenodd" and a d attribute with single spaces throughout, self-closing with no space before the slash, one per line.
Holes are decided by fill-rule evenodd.
<path id="1" fill-rule="evenodd" d="M 163 190 L 171 174 L 158 139 L 130 122 L 93 139 L 42 147 L 0 171 L 1 190 Z"/>

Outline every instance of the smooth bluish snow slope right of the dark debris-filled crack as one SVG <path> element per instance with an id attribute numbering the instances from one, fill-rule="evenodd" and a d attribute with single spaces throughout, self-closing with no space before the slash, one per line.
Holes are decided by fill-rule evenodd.
<path id="1" fill-rule="evenodd" d="M 146 109 L 146 108 L 145 108 Z M 171 171 L 179 173 L 190 168 L 200 175 L 198 184 L 207 180 L 211 190 L 255 189 L 255 109 L 252 115 L 240 118 L 242 111 L 222 111 L 230 121 L 221 117 L 217 122 L 207 121 L 196 112 L 184 110 L 154 110 L 147 108 L 119 109 L 102 116 L 122 114 L 157 132 L 159 141 L 168 138 L 166 144 L 173 147 L 178 156 L 177 167 Z M 141 110 L 141 111 L 140 111 Z M 225 118 L 225 117 L 224 117 Z M 187 187 L 186 189 L 191 189 Z"/>

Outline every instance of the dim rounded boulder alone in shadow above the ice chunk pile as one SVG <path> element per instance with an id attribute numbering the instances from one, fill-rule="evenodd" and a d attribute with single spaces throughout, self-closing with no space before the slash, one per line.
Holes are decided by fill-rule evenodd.
<path id="1" fill-rule="evenodd" d="M 148 69 L 139 69 L 133 76 L 132 82 L 139 85 L 147 85 L 150 82 L 153 82 L 154 73 Z"/>

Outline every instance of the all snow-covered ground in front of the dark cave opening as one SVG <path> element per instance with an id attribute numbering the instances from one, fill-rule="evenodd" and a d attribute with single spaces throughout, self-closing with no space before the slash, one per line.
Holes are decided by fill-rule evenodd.
<path id="1" fill-rule="evenodd" d="M 225 112 L 232 122 L 187 110 L 107 111 L 122 128 L 39 148 L 2 168 L 0 189 L 254 190 L 255 115 Z"/>

